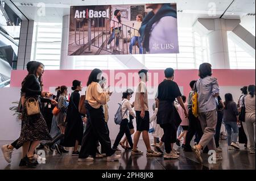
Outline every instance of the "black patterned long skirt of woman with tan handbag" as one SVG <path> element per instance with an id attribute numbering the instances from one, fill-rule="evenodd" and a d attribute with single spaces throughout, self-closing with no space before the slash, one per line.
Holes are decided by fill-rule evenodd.
<path id="1" fill-rule="evenodd" d="M 30 97 L 29 97 L 30 98 Z M 38 96 L 33 97 L 36 100 L 40 99 Z M 28 98 L 26 98 L 27 100 Z M 46 120 L 42 113 L 37 115 L 28 116 L 26 104 L 22 108 L 22 128 L 20 132 L 20 137 L 18 138 L 17 146 L 22 146 L 24 142 L 27 141 L 41 141 L 41 140 L 51 140 L 49 135 Z"/>

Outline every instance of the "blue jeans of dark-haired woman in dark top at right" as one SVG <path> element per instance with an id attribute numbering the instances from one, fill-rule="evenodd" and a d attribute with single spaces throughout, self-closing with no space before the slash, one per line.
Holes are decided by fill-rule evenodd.
<path id="1" fill-rule="evenodd" d="M 226 132 L 228 133 L 228 146 L 231 145 L 231 142 L 237 142 L 238 137 L 238 126 L 237 122 L 224 122 Z"/>

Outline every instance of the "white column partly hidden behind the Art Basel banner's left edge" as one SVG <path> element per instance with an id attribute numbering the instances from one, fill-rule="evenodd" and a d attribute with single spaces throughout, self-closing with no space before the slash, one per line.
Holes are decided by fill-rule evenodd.
<path id="1" fill-rule="evenodd" d="M 74 66 L 75 57 L 68 56 L 69 17 L 70 15 L 63 16 L 61 53 L 60 53 L 60 69 L 61 70 L 75 68 Z"/>

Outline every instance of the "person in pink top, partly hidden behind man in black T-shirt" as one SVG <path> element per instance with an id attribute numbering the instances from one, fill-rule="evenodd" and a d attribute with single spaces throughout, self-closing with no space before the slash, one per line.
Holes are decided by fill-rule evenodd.
<path id="1" fill-rule="evenodd" d="M 183 100 L 184 106 L 185 106 L 185 108 L 188 111 L 188 104 L 185 103 L 186 100 L 187 100 L 186 96 L 182 95 L 181 99 Z M 180 126 L 182 127 L 183 132 L 177 138 L 176 145 L 180 146 L 180 140 L 183 137 L 183 144 L 182 144 L 182 147 L 183 147 L 185 145 L 185 140 L 186 140 L 186 135 L 187 135 L 187 132 L 188 132 L 188 125 L 189 125 L 189 123 L 188 123 L 188 117 L 185 116 L 184 111 L 181 108 L 180 104 L 177 105 L 177 111 L 179 112 L 180 119 L 182 120 L 182 122 L 180 123 Z"/>

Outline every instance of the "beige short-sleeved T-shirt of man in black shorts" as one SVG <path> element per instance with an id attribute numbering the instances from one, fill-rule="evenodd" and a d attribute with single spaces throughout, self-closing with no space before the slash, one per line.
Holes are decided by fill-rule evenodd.
<path id="1" fill-rule="evenodd" d="M 141 100 L 139 99 L 139 95 L 141 93 L 144 93 L 143 94 L 144 110 L 148 111 L 147 86 L 146 86 L 146 83 L 143 82 L 143 81 L 139 82 L 139 85 L 138 85 L 136 93 L 135 93 L 134 111 L 141 111 L 142 110 Z"/>

